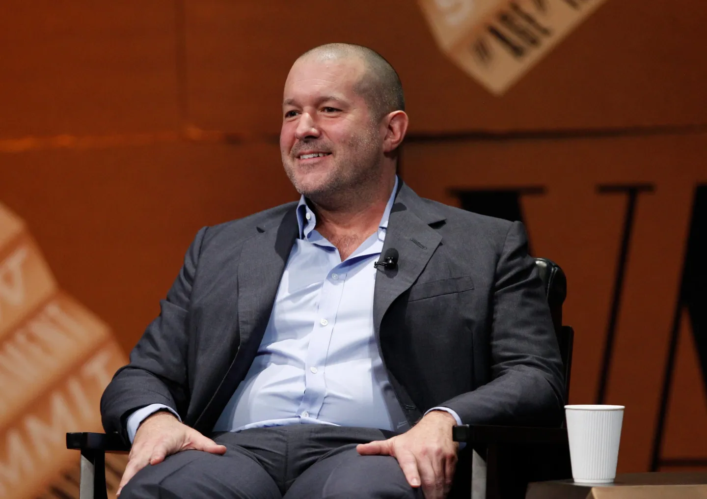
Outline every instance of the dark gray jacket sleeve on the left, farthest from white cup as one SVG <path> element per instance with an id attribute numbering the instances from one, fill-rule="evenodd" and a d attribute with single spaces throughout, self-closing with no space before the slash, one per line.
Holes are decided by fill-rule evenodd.
<path id="1" fill-rule="evenodd" d="M 197 233 L 167 298 L 160 300 L 160 315 L 133 348 L 130 363 L 115 373 L 101 397 L 103 428 L 121 433 L 126 441 L 127 417 L 136 409 L 164 404 L 182 416 L 187 409 L 188 310 L 205 233 L 206 228 Z"/>

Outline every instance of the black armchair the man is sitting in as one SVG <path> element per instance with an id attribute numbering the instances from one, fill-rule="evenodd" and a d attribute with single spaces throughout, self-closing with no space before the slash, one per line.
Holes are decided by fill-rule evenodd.
<path id="1" fill-rule="evenodd" d="M 567 281 L 562 269 L 548 259 L 535 259 L 545 286 L 560 346 L 569 393 L 573 329 L 562 325 Z M 523 498 L 531 481 L 571 478 L 567 430 L 518 426 L 460 425 L 452 430 L 460 453 L 455 489 L 449 499 Z M 107 499 L 105 453 L 129 452 L 117 433 L 66 433 L 66 448 L 81 450 L 81 499 Z M 462 455 L 463 454 L 463 455 Z"/>

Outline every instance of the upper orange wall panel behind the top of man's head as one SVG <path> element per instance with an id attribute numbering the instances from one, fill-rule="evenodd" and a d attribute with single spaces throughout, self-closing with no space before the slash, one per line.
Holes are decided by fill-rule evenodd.
<path id="1" fill-rule="evenodd" d="M 446 59 L 416 2 L 187 1 L 189 117 L 206 129 L 279 130 L 293 60 L 333 41 L 377 49 L 399 71 L 411 131 L 707 124 L 707 5 L 614 0 L 496 98 Z"/>

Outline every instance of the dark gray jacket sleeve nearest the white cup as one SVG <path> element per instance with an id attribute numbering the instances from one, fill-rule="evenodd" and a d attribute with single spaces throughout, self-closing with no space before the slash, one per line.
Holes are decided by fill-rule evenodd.
<path id="1" fill-rule="evenodd" d="M 542 281 L 519 222 L 506 234 L 491 306 L 491 382 L 439 405 L 459 414 L 464 424 L 558 424 L 562 361 Z"/>

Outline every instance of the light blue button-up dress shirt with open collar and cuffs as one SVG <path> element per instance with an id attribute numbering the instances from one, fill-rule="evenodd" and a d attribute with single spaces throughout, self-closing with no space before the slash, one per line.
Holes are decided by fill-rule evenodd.
<path id="1" fill-rule="evenodd" d="M 300 237 L 290 252 L 262 342 L 214 431 L 305 423 L 409 429 L 373 330 L 373 264 L 382 251 L 397 186 L 396 177 L 378 231 L 344 262 L 316 230 L 315 213 L 304 196 L 300 199 Z M 151 404 L 129 416 L 131 441 L 139 424 L 159 409 L 174 413 L 163 404 Z M 435 409 L 451 413 L 461 424 L 451 409 L 430 410 Z"/>

